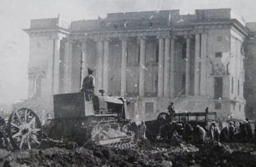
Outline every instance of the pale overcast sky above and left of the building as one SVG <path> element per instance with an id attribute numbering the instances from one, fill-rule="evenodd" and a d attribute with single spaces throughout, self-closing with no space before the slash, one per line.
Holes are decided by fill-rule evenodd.
<path id="1" fill-rule="evenodd" d="M 246 22 L 256 21 L 253 0 L 0 0 L 0 104 L 27 98 L 27 63 L 30 19 L 57 17 L 75 21 L 105 17 L 107 13 L 180 9 L 194 14 L 195 9 L 231 8 Z"/>

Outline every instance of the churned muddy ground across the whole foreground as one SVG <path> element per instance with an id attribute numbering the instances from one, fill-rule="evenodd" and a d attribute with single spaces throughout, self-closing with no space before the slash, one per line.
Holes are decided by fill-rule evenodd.
<path id="1" fill-rule="evenodd" d="M 246 143 L 191 145 L 145 140 L 130 148 L 65 147 L 19 152 L 1 149 L 0 166 L 256 166 L 255 144 Z"/>

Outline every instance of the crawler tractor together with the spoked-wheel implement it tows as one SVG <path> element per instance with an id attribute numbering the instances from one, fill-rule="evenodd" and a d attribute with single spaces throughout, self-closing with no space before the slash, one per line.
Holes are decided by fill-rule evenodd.
<path id="1" fill-rule="evenodd" d="M 128 120 L 127 101 L 122 97 L 94 96 L 86 101 L 84 92 L 55 94 L 54 118 L 42 127 L 30 109 L 14 111 L 1 125 L 4 138 L 14 148 L 38 148 L 44 139 L 75 141 L 79 145 L 110 145 L 135 141 L 136 124 Z"/>

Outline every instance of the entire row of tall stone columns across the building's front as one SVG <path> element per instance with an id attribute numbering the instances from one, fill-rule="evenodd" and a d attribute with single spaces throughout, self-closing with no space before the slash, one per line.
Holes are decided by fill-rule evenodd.
<path id="1" fill-rule="evenodd" d="M 194 81 L 194 92 L 195 95 L 206 94 L 206 56 L 201 58 L 201 55 L 206 55 L 206 38 L 207 36 L 202 34 L 195 35 L 195 81 Z M 127 37 L 120 38 L 122 43 L 122 58 L 121 58 L 121 96 L 126 96 L 127 87 Z M 140 62 L 139 62 L 139 96 L 145 96 L 145 36 L 138 37 L 140 41 Z M 157 35 L 159 40 L 158 48 L 158 97 L 174 97 L 175 96 L 175 63 L 174 63 L 174 47 L 175 47 L 175 36 L 172 38 L 169 35 Z M 190 61 L 191 61 L 191 35 L 185 35 L 186 39 L 186 81 L 185 81 L 185 92 L 188 96 L 190 94 Z M 108 92 L 108 71 L 109 71 L 109 40 L 99 39 L 96 42 L 96 91 L 104 88 Z M 202 42 L 201 42 L 202 40 Z M 72 45 L 70 41 L 65 43 L 65 70 L 64 73 L 66 80 L 71 80 L 71 52 Z M 59 45 L 59 44 L 57 44 Z M 82 79 L 87 75 L 86 65 L 86 52 L 87 52 L 87 40 L 82 41 Z M 205 63 L 204 63 L 205 62 Z M 82 81 L 81 81 L 82 82 Z M 71 84 L 71 83 L 70 83 Z M 69 91 L 71 85 L 69 82 L 65 82 L 64 90 Z"/>

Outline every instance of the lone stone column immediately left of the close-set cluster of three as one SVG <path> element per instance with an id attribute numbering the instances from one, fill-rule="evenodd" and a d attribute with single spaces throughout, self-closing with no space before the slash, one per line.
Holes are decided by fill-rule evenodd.
<path id="1" fill-rule="evenodd" d="M 139 96 L 145 96 L 145 36 L 138 37 L 140 40 L 140 77 L 139 77 Z"/>

